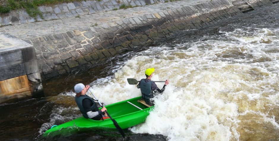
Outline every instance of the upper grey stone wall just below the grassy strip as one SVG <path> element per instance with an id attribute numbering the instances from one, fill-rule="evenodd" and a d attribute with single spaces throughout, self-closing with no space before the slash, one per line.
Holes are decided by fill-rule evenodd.
<path id="1" fill-rule="evenodd" d="M 164 2 L 165 0 L 102 0 L 102 1 L 82 1 L 57 4 L 54 6 L 40 6 L 42 17 L 37 15 L 36 18 L 30 17 L 24 9 L 12 11 L 8 14 L 1 15 L 0 25 L 15 25 L 23 23 L 33 23 L 36 21 L 56 20 L 69 18 L 80 15 L 111 11 L 119 9 L 122 4 L 131 5 L 132 7 L 146 4 Z"/>

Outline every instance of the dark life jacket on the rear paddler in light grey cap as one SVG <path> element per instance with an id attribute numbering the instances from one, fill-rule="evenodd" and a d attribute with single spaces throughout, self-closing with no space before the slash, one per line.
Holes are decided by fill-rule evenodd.
<path id="1" fill-rule="evenodd" d="M 80 97 L 75 96 L 75 100 L 76 100 L 77 106 L 80 108 L 80 112 L 82 113 L 82 115 L 83 115 L 85 118 L 89 118 L 88 115 L 86 114 L 86 112 L 85 112 L 85 110 L 84 110 L 84 107 L 83 107 L 83 104 L 82 104 L 83 99 L 90 99 L 90 100 L 91 100 L 91 102 L 93 103 L 93 105 L 91 106 L 91 110 L 92 110 L 93 112 L 96 112 L 96 111 L 98 111 L 99 109 L 98 109 L 96 103 L 93 101 L 93 99 L 92 99 L 90 96 L 88 96 L 88 95 L 86 95 L 86 94 L 85 94 L 85 95 L 81 95 Z M 93 117 L 93 118 L 98 120 L 98 119 L 101 119 L 102 116 L 101 116 L 101 115 L 96 115 L 96 116 Z"/>

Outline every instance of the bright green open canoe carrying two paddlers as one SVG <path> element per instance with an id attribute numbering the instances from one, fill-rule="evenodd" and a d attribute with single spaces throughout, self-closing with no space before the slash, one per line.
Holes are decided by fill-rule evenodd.
<path id="1" fill-rule="evenodd" d="M 126 129 L 143 123 L 146 117 L 149 115 L 150 110 L 153 108 L 153 106 L 148 107 L 147 105 L 138 102 L 139 99 L 141 99 L 141 96 L 113 103 L 105 107 L 107 108 L 110 116 L 118 123 L 118 125 L 122 129 Z M 70 135 L 72 132 L 77 132 L 77 130 L 83 130 L 85 128 L 116 129 L 111 119 L 95 121 L 82 116 L 53 127 L 47 130 L 42 136 L 56 136 L 60 134 Z"/>

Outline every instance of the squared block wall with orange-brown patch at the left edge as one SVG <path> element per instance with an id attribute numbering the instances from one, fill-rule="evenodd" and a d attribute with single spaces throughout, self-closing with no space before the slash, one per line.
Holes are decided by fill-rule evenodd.
<path id="1" fill-rule="evenodd" d="M 0 32 L 0 104 L 43 93 L 35 48 Z"/>

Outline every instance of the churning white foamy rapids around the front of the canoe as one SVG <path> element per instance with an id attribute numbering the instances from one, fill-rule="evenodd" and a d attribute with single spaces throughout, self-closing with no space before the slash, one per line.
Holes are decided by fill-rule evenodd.
<path id="1" fill-rule="evenodd" d="M 247 111 L 262 111 L 260 119 L 278 128 L 263 110 L 279 106 L 279 53 L 266 51 L 278 47 L 278 31 L 237 29 L 218 40 L 151 47 L 114 68 L 114 76 L 91 83 L 90 90 L 105 105 L 140 96 L 126 79 L 145 78 L 145 69 L 154 67 L 152 80 L 169 79 L 170 84 L 154 98 L 156 106 L 145 123 L 130 129 L 134 133 L 162 134 L 175 141 L 239 140 L 244 122 L 239 117 L 251 113 Z"/>

